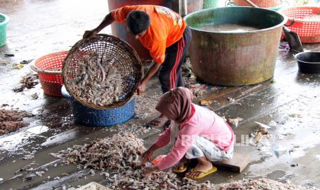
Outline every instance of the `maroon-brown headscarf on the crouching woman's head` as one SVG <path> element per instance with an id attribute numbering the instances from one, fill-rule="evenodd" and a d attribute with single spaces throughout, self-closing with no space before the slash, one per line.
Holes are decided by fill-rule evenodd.
<path id="1" fill-rule="evenodd" d="M 182 123 L 191 114 L 192 92 L 186 87 L 170 89 L 169 92 L 162 94 L 156 109 L 171 120 Z"/>

